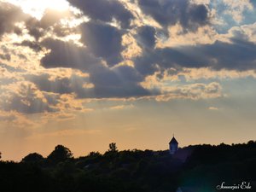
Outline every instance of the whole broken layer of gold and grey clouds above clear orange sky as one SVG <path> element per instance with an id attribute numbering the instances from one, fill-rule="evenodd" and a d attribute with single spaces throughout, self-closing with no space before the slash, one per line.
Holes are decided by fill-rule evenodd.
<path id="1" fill-rule="evenodd" d="M 200 81 L 195 70 L 211 77 L 223 71 L 230 78 L 254 77 L 255 21 L 224 22 L 234 15 L 232 8 L 241 14 L 238 22 L 251 18 L 244 10 L 255 9 L 250 2 L 236 7 L 231 1 L 68 2 L 69 10 L 46 9 L 40 20 L 0 3 L 1 110 L 62 113 L 65 105 L 76 110 L 68 105 L 88 98 L 217 98 L 224 96 L 221 83 Z M 205 36 L 203 44 L 193 42 Z M 189 42 L 172 44 L 182 37 Z"/>

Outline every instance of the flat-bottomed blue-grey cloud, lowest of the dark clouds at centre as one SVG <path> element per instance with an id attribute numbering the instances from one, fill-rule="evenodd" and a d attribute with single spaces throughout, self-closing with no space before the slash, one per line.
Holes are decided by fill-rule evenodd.
<path id="1" fill-rule="evenodd" d="M 90 73 L 90 82 L 95 85 L 94 96 L 100 98 L 150 95 L 150 92 L 139 84 L 141 81 L 143 76 L 128 66 L 114 69 L 95 67 Z"/>

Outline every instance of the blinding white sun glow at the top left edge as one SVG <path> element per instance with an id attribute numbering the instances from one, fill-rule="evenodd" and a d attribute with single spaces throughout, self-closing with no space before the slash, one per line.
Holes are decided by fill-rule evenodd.
<path id="1" fill-rule="evenodd" d="M 57 11 L 69 9 L 69 3 L 66 0 L 9 0 L 8 2 L 20 6 L 24 13 L 38 20 L 43 17 L 45 9 Z"/>

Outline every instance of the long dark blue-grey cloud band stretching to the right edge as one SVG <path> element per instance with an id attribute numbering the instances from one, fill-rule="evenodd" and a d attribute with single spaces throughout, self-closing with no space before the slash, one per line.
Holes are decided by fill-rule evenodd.
<path id="1" fill-rule="evenodd" d="M 254 23 L 231 27 L 228 33 L 216 36 L 211 44 L 187 44 L 144 50 L 141 56 L 134 59 L 134 65 L 143 75 L 152 75 L 168 68 L 180 70 L 183 67 L 242 72 L 255 70 L 255 48 Z"/>

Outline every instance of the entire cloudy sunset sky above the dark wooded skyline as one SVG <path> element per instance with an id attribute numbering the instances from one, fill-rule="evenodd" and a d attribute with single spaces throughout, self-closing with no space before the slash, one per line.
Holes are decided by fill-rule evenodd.
<path id="1" fill-rule="evenodd" d="M 255 0 L 0 0 L 3 160 L 247 143 Z"/>

